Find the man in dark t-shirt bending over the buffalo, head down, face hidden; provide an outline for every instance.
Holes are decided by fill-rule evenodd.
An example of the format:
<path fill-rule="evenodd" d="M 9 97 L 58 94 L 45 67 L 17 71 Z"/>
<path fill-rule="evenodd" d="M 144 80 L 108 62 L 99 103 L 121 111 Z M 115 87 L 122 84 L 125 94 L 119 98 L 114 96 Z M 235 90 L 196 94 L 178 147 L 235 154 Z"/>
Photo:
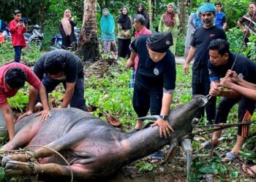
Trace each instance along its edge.
<path fill-rule="evenodd" d="M 43 54 L 34 65 L 34 74 L 42 80 L 46 92 L 52 92 L 59 83 L 65 87 L 61 108 L 68 105 L 86 111 L 84 99 L 83 64 L 72 52 L 67 50 L 52 50 Z M 34 99 L 35 90 L 31 92 Z"/>

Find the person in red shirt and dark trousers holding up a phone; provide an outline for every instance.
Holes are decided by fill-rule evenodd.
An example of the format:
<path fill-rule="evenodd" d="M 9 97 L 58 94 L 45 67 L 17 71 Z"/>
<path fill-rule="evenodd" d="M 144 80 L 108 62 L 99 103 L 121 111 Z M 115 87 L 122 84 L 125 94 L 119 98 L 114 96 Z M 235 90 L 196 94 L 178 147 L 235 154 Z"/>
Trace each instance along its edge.
<path fill-rule="evenodd" d="M 15 62 L 20 62 L 21 49 L 26 47 L 26 41 L 23 33 L 26 32 L 26 24 L 21 20 L 21 12 L 14 11 L 14 19 L 9 23 L 10 33 L 12 35 L 12 46 L 15 50 Z"/>

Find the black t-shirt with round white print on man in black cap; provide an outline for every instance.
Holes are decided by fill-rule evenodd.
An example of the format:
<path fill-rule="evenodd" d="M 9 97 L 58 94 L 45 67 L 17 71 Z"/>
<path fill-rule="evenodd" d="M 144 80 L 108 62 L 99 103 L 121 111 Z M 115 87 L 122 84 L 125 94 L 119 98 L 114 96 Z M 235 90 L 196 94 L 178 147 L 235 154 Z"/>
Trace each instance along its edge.
<path fill-rule="evenodd" d="M 170 50 L 158 63 L 151 60 L 146 48 L 146 39 L 150 35 L 141 35 L 130 45 L 131 50 L 138 52 L 139 62 L 135 75 L 135 84 L 151 89 L 174 90 L 176 87 L 176 63 Z"/>

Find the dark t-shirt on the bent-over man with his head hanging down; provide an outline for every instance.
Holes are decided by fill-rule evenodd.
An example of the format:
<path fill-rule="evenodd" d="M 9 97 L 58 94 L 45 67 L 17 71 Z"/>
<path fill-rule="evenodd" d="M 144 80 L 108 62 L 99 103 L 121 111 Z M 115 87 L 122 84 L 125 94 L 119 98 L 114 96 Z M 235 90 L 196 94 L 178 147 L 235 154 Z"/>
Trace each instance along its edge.
<path fill-rule="evenodd" d="M 43 54 L 34 65 L 34 74 L 42 80 L 45 73 L 45 58 L 47 56 L 59 54 L 64 63 L 64 74 L 66 76 L 65 81 L 68 83 L 76 82 L 77 79 L 83 78 L 83 64 L 72 52 L 67 50 L 52 50 Z"/>

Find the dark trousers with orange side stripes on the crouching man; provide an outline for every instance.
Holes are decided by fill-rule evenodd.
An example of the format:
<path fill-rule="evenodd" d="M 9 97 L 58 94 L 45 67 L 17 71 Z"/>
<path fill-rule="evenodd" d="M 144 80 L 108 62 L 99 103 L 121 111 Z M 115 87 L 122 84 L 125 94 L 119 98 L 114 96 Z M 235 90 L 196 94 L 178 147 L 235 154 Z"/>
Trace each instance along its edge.
<path fill-rule="evenodd" d="M 230 109 L 239 102 L 238 105 L 238 122 L 244 122 L 249 120 L 255 111 L 255 101 L 248 98 L 225 98 L 222 97 L 222 100 L 219 102 L 217 108 L 217 114 L 215 118 L 215 124 L 226 123 L 227 116 L 230 112 Z M 238 135 L 246 137 L 248 135 L 248 126 L 238 126 Z"/>

